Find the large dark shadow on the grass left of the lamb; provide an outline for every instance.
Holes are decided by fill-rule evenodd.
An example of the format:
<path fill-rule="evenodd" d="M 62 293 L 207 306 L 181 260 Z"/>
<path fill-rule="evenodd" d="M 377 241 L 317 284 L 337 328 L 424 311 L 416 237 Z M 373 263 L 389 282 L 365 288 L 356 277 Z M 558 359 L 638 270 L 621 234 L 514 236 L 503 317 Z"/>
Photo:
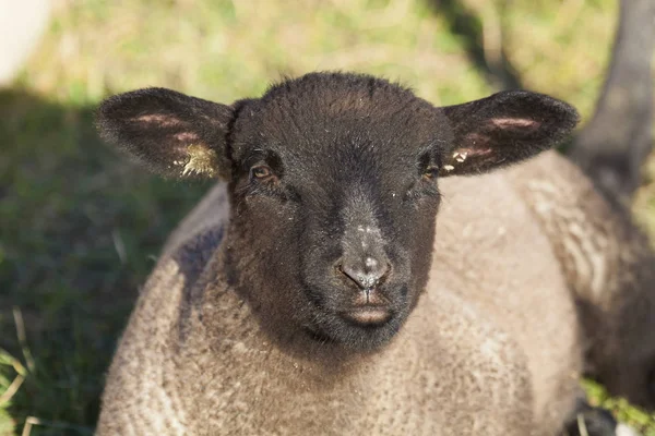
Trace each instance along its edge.
<path fill-rule="evenodd" d="M 0 92 L 0 348 L 28 368 L 0 429 L 9 415 L 16 434 L 28 416 L 45 423 L 33 436 L 92 433 L 139 286 L 207 187 L 129 165 L 96 136 L 93 110 Z M 0 361 L 0 396 L 14 376 Z"/>

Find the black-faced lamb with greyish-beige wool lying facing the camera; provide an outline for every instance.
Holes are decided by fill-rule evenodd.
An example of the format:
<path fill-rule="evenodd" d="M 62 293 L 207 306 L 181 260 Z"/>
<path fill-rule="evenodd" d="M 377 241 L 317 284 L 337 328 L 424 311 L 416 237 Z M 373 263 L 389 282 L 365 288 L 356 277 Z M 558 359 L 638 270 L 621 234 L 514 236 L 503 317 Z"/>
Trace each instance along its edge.
<path fill-rule="evenodd" d="M 548 168 L 584 180 L 548 150 L 577 120 L 541 94 L 436 108 L 340 72 L 230 106 L 108 98 L 107 142 L 165 177 L 221 182 L 141 292 L 97 434 L 570 428 L 582 332 L 529 194 Z"/>

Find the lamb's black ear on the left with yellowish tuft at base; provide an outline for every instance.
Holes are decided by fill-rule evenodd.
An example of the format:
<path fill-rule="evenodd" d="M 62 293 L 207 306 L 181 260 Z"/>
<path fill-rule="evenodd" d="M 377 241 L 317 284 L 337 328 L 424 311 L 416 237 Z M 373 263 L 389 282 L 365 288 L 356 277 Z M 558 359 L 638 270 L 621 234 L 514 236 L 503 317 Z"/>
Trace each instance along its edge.
<path fill-rule="evenodd" d="M 166 177 L 230 174 L 226 135 L 233 109 L 164 88 L 107 98 L 97 111 L 100 136 Z"/>

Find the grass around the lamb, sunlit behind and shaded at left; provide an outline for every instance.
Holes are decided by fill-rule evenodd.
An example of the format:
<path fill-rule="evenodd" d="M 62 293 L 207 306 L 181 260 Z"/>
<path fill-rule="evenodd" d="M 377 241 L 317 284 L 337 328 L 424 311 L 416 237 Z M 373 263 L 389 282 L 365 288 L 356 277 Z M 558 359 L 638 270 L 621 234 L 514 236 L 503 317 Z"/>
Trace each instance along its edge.
<path fill-rule="evenodd" d="M 207 187 L 107 149 L 92 125 L 103 97 L 157 85 L 229 102 L 284 74 L 342 69 L 441 105 L 516 81 L 588 119 L 616 14 L 609 0 L 56 0 L 0 90 L 0 435 L 92 434 L 138 289 Z M 586 388 L 655 435 L 654 416 Z"/>

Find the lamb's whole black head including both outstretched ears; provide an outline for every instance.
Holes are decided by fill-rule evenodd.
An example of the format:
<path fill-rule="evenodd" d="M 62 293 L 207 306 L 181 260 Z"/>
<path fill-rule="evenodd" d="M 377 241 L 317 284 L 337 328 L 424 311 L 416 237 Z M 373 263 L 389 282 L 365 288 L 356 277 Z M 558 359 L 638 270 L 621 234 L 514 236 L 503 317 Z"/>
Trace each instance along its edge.
<path fill-rule="evenodd" d="M 229 182 L 224 255 L 254 312 L 357 350 L 386 343 L 426 286 L 438 179 L 529 158 L 576 121 L 573 108 L 534 93 L 436 108 L 341 73 L 231 106 L 142 89 L 98 113 L 104 136 L 154 170 Z"/>

